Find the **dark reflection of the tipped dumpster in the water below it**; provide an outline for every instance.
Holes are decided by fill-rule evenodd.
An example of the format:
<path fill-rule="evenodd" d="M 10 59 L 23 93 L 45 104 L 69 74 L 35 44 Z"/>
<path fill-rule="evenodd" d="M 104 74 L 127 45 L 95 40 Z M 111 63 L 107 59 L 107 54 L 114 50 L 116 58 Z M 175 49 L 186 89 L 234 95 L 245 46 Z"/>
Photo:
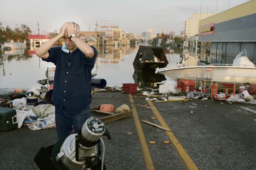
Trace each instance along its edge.
<path fill-rule="evenodd" d="M 138 84 L 138 86 L 150 86 L 157 87 L 157 82 L 161 82 L 166 80 L 165 76 L 159 73 L 155 73 L 154 71 L 150 72 L 139 72 L 134 71 L 133 73 L 134 83 Z"/>

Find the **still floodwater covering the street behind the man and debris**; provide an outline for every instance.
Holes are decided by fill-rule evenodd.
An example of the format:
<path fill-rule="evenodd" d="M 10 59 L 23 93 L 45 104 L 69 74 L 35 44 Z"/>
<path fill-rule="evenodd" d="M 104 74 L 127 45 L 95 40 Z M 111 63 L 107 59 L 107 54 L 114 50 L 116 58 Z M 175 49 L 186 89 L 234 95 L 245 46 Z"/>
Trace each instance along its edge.
<path fill-rule="evenodd" d="M 141 74 L 134 72 L 133 60 L 139 49 L 136 46 L 102 46 L 98 49 L 98 57 L 92 73 L 97 73 L 94 78 L 103 78 L 107 86 L 122 86 L 123 83 L 138 83 L 139 85 L 155 86 L 156 82 L 163 81 L 163 75 Z M 164 49 L 170 65 L 180 61 L 180 49 Z M 13 50 L 1 51 L 0 56 L 0 89 L 3 88 L 29 88 L 42 86 L 37 80 L 46 79 L 47 67 L 55 67 L 54 64 L 44 62 L 36 56 L 35 51 Z"/>

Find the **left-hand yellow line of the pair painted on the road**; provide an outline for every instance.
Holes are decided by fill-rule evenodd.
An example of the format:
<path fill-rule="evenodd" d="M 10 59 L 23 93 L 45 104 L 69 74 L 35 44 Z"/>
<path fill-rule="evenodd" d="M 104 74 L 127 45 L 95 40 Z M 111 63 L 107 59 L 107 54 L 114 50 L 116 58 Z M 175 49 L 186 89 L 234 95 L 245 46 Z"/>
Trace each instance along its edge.
<path fill-rule="evenodd" d="M 135 126 L 137 129 L 138 137 L 139 137 L 139 143 L 141 145 L 141 150 L 142 150 L 142 155 L 143 155 L 146 170 L 154 170 L 155 168 L 153 165 L 151 154 L 149 152 L 149 148 L 147 147 L 147 142 L 141 127 L 141 123 L 139 122 L 139 116 L 136 110 L 136 106 L 134 105 L 133 96 L 129 94 L 129 98 L 130 98 L 131 108 L 133 110 L 133 118 L 134 118 Z"/>

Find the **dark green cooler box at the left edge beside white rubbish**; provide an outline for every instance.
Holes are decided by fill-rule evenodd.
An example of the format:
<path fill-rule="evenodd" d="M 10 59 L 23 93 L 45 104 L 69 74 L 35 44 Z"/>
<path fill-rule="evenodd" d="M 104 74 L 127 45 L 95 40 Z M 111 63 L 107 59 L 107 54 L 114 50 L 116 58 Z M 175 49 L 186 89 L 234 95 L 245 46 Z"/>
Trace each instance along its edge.
<path fill-rule="evenodd" d="M 0 107 L 0 130 L 9 131 L 18 127 L 15 109 Z"/>

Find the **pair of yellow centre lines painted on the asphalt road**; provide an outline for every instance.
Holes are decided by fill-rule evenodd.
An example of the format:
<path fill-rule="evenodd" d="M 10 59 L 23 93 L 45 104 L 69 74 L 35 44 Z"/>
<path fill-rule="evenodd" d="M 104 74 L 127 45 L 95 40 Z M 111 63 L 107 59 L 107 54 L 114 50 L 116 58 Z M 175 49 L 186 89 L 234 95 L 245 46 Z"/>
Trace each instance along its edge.
<path fill-rule="evenodd" d="M 141 149 L 142 149 L 142 154 L 143 154 L 143 159 L 144 159 L 144 164 L 145 164 L 146 170 L 154 170 L 155 168 L 154 168 L 154 165 L 153 165 L 153 161 L 152 161 L 149 149 L 147 147 L 146 138 L 145 138 L 143 130 L 141 128 L 141 124 L 139 122 L 139 116 L 138 116 L 138 113 L 137 113 L 137 110 L 136 110 L 136 106 L 134 104 L 134 100 L 133 100 L 133 97 L 132 97 L 131 94 L 129 94 L 129 98 L 130 98 L 130 102 L 131 102 L 131 107 L 133 109 L 134 122 L 135 122 L 136 129 L 137 129 L 137 132 L 138 132 L 139 143 L 141 145 Z M 167 124 L 165 123 L 165 121 L 162 118 L 162 116 L 159 113 L 159 111 L 154 106 L 154 104 L 151 101 L 148 101 L 148 100 L 147 100 L 147 103 L 152 108 L 152 110 L 153 110 L 154 114 L 156 115 L 156 118 L 160 122 L 161 126 L 170 129 L 167 126 Z M 194 162 L 191 160 L 191 158 L 188 156 L 188 154 L 186 153 L 186 151 L 184 150 L 184 148 L 180 144 L 180 142 L 177 140 L 175 135 L 172 132 L 165 131 L 165 133 L 167 134 L 167 136 L 169 137 L 170 141 L 172 142 L 172 146 L 174 147 L 176 153 L 180 157 L 180 159 L 183 162 L 183 164 L 185 165 L 185 167 L 187 169 L 189 169 L 189 170 L 198 170 L 198 168 L 196 167 Z"/>

